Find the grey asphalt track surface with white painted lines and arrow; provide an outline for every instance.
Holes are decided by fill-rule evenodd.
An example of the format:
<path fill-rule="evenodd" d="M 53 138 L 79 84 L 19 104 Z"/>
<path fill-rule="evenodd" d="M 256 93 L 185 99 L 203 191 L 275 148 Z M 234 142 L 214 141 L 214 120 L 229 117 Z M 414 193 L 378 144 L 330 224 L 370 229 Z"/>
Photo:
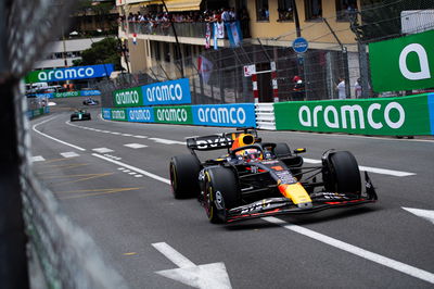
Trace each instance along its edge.
<path fill-rule="evenodd" d="M 191 288 L 164 274 L 201 288 L 433 288 L 434 223 L 403 209 L 434 210 L 432 140 L 259 131 L 309 162 L 352 151 L 380 200 L 213 225 L 196 200 L 173 198 L 168 163 L 186 137 L 233 129 L 107 122 L 98 108 L 71 124 L 80 102 L 58 102 L 31 122 L 34 171 L 131 288 Z"/>

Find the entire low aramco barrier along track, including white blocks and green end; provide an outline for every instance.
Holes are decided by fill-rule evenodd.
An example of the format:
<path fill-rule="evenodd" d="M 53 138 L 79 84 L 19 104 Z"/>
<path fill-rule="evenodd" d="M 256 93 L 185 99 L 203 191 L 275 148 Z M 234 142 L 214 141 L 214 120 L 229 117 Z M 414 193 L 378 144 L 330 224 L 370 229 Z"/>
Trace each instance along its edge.
<path fill-rule="evenodd" d="M 105 120 L 383 136 L 434 135 L 434 93 L 400 98 L 102 109 Z"/>

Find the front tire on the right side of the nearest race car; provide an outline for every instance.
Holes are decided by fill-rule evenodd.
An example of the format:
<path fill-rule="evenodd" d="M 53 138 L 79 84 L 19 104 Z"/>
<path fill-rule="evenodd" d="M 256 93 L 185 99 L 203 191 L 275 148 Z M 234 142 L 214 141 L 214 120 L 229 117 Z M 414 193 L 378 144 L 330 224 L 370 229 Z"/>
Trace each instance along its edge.
<path fill-rule="evenodd" d="M 329 191 L 361 194 L 359 166 L 349 151 L 331 153 L 326 162 L 322 178 Z"/>

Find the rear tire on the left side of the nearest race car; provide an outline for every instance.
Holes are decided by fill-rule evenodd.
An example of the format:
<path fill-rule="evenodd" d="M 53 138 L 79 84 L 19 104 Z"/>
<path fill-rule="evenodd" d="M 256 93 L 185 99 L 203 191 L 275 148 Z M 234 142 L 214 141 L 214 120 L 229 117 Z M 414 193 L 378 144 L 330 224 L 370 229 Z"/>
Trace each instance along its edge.
<path fill-rule="evenodd" d="M 201 163 L 192 154 L 182 154 L 170 160 L 170 185 L 175 199 L 199 197 L 199 172 Z"/>

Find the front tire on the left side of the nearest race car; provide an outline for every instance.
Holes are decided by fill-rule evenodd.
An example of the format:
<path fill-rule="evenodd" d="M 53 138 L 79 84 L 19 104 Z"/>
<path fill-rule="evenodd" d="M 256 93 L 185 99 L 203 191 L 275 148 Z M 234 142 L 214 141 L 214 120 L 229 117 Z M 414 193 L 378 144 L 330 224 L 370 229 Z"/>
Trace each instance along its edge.
<path fill-rule="evenodd" d="M 226 222 L 226 210 L 241 204 L 237 176 L 229 167 L 216 166 L 205 171 L 203 204 L 213 224 Z"/>

